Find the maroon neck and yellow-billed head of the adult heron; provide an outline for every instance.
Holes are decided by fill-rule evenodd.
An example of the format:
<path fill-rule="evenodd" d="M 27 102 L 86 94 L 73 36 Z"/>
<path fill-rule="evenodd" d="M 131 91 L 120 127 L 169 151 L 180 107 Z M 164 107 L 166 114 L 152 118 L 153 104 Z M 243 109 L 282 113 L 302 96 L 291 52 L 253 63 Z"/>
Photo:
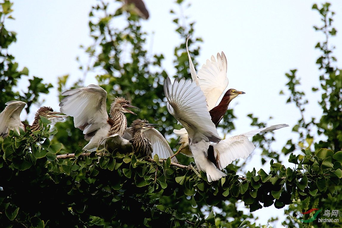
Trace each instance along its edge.
<path fill-rule="evenodd" d="M 211 116 L 211 121 L 215 124 L 216 127 L 219 125 L 224 114 L 226 113 L 229 103 L 239 94 L 245 94 L 245 93 L 241 91 L 237 91 L 235 89 L 227 90 L 227 92 L 223 95 L 220 104 L 209 111 L 210 116 Z"/>

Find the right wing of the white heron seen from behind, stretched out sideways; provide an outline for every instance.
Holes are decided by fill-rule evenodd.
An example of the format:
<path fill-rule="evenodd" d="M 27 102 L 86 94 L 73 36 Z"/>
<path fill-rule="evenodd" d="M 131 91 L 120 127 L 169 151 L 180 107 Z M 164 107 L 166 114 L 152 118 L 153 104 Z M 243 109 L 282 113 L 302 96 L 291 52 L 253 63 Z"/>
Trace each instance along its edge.
<path fill-rule="evenodd" d="M 272 125 L 267 128 L 260 128 L 240 135 L 235 135 L 233 137 L 221 140 L 220 143 L 212 144 L 215 155 L 219 156 L 219 159 L 216 159 L 218 160 L 219 169 L 222 170 L 234 160 L 239 158 L 246 159 L 250 155 L 255 146 L 248 140 L 249 137 L 262 132 L 274 131 L 287 126 L 289 125 Z"/>

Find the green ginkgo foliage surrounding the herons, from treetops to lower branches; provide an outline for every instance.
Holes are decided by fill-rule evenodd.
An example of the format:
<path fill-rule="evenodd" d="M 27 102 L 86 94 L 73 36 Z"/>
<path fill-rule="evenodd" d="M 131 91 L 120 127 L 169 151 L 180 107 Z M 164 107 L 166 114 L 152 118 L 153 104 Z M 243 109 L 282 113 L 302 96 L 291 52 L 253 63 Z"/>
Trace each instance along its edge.
<path fill-rule="evenodd" d="M 132 100 L 133 105 L 144 104 L 139 107 L 141 115 L 151 123 L 160 124 L 158 130 L 163 135 L 172 135 L 172 130 L 181 126 L 166 109 L 162 84 L 167 76 L 190 78 L 185 40 L 194 32 L 194 24 L 183 27 L 178 23 L 177 13 L 171 10 L 177 25 L 175 32 L 184 42 L 174 49 L 176 73 L 169 75 L 163 69 L 164 56 L 152 55 L 144 49 L 146 33 L 139 16 L 134 12 L 111 11 L 113 8 L 109 5 L 98 1 L 90 11 L 90 36 L 94 42 L 84 50 L 91 61 L 80 68 L 86 74 L 101 72 L 96 79 L 108 93 L 107 107 L 118 95 Z M 251 214 L 237 209 L 237 203 L 242 202 L 250 212 L 271 205 L 277 209 L 289 205 L 289 217 L 284 225 L 308 227 L 315 221 L 308 224 L 299 219 L 310 218 L 312 214 L 299 217 L 296 211 L 315 207 L 338 210 L 336 202 L 341 202 L 342 177 L 342 77 L 328 42 L 328 38 L 336 35 L 329 6 L 329 3 L 313 6 L 322 18 L 322 24 L 315 29 L 326 35 L 326 40 L 316 46 L 322 53 L 317 59 L 321 86 L 313 88 L 313 92 L 323 91 L 319 101 L 323 116 L 320 120 L 307 121 L 302 115 L 292 129 L 298 133 L 299 141 L 289 139 L 282 151 L 272 151 L 269 146 L 274 141 L 272 133 L 253 138 L 262 148 L 263 157 L 272 158 L 265 164 L 270 171 L 253 169 L 239 176 L 236 171 L 240 167 L 233 162 L 224 169 L 226 177 L 209 183 L 205 173 L 198 172 L 193 160 L 186 156 L 179 156 L 179 163 L 175 164 L 170 159 L 160 160 L 157 156 L 144 159 L 118 150 L 87 153 L 82 151 L 86 143 L 82 132 L 74 128 L 71 118 L 54 127 L 42 118 L 39 131 L 10 131 L 8 137 L 0 137 L 0 226 L 260 227 Z M 3 49 L 15 41 L 13 36 L 8 36 L 14 32 L 3 32 L 5 21 L 12 15 L 15 12 L 11 10 L 11 3 L 1 3 L 0 41 L 1 45 L 6 43 Z M 115 27 L 119 17 L 127 19 L 124 28 Z M 193 58 L 199 54 L 200 42 L 200 38 L 193 36 L 189 40 Z M 123 59 L 127 53 L 129 60 Z M 5 61 L 13 62 L 13 59 L 12 56 Z M 195 59 L 194 64 L 197 65 Z M 3 80 L 3 72 L 8 67 L 0 67 Z M 305 93 L 297 90 L 300 80 L 295 73 L 294 69 L 286 74 L 289 82 L 282 94 L 304 113 L 308 101 Z M 25 70 L 19 71 L 20 74 L 25 75 Z M 60 92 L 70 89 L 66 88 L 67 80 L 68 76 L 61 77 L 55 85 Z M 6 90 L 15 93 L 14 85 L 9 84 Z M 73 87 L 81 85 L 78 81 Z M 251 125 L 265 126 L 257 117 L 248 116 Z M 136 117 L 127 118 L 131 123 Z M 229 110 L 220 128 L 225 132 L 234 129 L 234 118 L 233 110 Z M 312 126 L 317 132 L 311 130 Z M 317 134 L 327 139 L 318 141 Z M 171 148 L 176 150 L 176 144 L 176 139 L 170 138 Z M 309 146 L 295 150 L 304 144 Z M 294 169 L 281 164 L 281 153 L 287 155 Z"/>

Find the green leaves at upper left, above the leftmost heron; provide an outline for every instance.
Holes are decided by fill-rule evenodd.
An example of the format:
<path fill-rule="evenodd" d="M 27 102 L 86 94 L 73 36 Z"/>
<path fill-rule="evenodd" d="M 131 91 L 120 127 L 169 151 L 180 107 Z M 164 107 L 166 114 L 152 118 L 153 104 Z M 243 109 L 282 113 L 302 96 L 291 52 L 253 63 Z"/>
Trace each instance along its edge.
<path fill-rule="evenodd" d="M 28 80 L 27 92 L 20 94 L 18 91 L 13 91 L 18 80 L 22 76 L 28 76 L 28 69 L 24 67 L 19 70 L 18 63 L 14 62 L 14 56 L 8 53 L 9 45 L 16 41 L 16 33 L 6 30 L 4 26 L 6 19 L 14 19 L 11 15 L 13 12 L 12 5 L 13 3 L 8 0 L 0 3 L 0 110 L 5 108 L 5 103 L 9 100 L 21 100 L 26 102 L 26 112 L 28 113 L 31 104 L 37 103 L 39 94 L 49 93 L 52 84 L 44 84 L 41 78 L 33 77 L 33 79 Z"/>

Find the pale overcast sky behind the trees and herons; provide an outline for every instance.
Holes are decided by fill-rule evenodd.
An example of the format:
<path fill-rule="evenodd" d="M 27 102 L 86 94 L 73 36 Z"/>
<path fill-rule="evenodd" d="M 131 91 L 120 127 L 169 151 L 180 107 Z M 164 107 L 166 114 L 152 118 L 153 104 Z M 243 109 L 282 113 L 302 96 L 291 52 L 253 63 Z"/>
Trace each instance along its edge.
<path fill-rule="evenodd" d="M 92 43 L 88 14 L 97 1 L 13 2 L 15 21 L 6 24 L 8 30 L 17 32 L 17 42 L 10 47 L 10 53 L 15 56 L 19 68 L 26 66 L 30 77 L 41 77 L 43 82 L 53 85 L 56 85 L 57 77 L 66 74 L 72 81 L 82 78 L 76 57 L 85 56 L 79 45 Z M 186 1 L 189 2 L 190 7 L 180 9 L 174 1 L 145 0 L 150 14 L 150 18 L 142 22 L 143 29 L 149 34 L 147 50 L 150 54 L 163 53 L 165 69 L 172 75 L 174 47 L 180 40 L 172 23 L 175 16 L 169 11 L 183 12 L 189 17 L 184 23 L 196 22 L 194 36 L 204 40 L 197 59 L 200 66 L 211 55 L 223 51 L 228 61 L 228 88 L 246 92 L 234 99 L 230 106 L 238 117 L 236 134 L 254 129 L 246 117 L 249 113 L 269 125 L 286 123 L 293 126 L 297 123 L 300 118 L 298 110 L 293 104 L 286 104 L 287 96 L 279 95 L 280 90 L 286 90 L 285 73 L 290 69 L 298 69 L 297 75 L 303 85 L 300 89 L 309 95 L 306 117 L 320 117 L 321 110 L 317 105 L 320 95 L 313 94 L 311 88 L 319 86 L 315 62 L 320 53 L 314 46 L 323 41 L 324 36 L 313 29 L 313 25 L 321 24 L 319 14 L 311 8 L 314 3 L 320 5 L 324 1 Z M 334 27 L 338 30 L 331 44 L 337 46 L 334 55 L 341 61 L 342 1 L 329 2 L 332 3 L 331 10 L 336 12 Z M 84 85 L 91 83 L 96 83 L 92 75 Z M 26 91 L 25 86 L 21 83 L 20 90 Z M 55 89 L 45 99 L 44 105 L 59 109 Z M 32 114 L 27 117 L 29 122 L 36 108 L 32 108 Z M 269 116 L 273 117 L 270 121 Z M 293 137 L 291 129 L 275 132 L 275 149 L 281 149 L 289 137 Z M 258 156 L 257 152 L 253 156 Z M 255 160 L 260 159 L 256 157 Z M 254 166 L 257 170 L 261 168 L 261 164 Z M 282 210 L 265 212 L 262 209 L 255 213 L 262 217 L 261 224 L 265 224 L 269 216 L 283 214 Z"/>

